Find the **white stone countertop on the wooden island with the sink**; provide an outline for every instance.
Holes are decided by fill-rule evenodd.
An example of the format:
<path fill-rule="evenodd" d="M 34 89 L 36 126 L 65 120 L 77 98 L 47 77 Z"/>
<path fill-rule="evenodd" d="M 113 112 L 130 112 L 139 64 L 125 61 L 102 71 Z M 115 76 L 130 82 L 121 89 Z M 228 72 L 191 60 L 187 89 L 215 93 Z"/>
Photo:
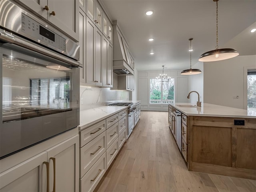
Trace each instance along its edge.
<path fill-rule="evenodd" d="M 245 110 L 208 103 L 202 103 L 202 107 L 184 107 L 189 105 L 196 106 L 194 103 L 172 103 L 170 105 L 187 116 L 256 118 L 256 110 Z"/>

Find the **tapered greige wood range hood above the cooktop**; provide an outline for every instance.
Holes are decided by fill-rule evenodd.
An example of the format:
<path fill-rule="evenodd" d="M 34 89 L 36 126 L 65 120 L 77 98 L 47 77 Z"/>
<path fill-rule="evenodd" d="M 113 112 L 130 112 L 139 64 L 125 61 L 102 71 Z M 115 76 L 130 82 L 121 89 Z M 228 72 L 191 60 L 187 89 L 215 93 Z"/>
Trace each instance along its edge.
<path fill-rule="evenodd" d="M 134 59 L 117 21 L 113 21 L 113 72 L 118 75 L 134 75 Z"/>

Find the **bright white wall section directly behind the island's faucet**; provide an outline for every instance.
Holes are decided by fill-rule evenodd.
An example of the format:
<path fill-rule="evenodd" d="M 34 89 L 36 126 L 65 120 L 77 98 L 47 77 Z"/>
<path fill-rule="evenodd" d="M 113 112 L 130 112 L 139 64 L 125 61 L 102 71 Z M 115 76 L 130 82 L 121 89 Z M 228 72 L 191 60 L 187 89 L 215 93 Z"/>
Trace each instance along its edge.
<path fill-rule="evenodd" d="M 196 75 L 188 75 L 188 92 L 197 91 L 200 95 L 200 101 L 204 102 L 204 63 L 197 62 L 193 67 L 193 69 L 200 69 L 202 71 L 201 74 Z M 188 102 L 196 103 L 198 101 L 198 95 L 196 93 L 190 94 L 190 99 Z"/>

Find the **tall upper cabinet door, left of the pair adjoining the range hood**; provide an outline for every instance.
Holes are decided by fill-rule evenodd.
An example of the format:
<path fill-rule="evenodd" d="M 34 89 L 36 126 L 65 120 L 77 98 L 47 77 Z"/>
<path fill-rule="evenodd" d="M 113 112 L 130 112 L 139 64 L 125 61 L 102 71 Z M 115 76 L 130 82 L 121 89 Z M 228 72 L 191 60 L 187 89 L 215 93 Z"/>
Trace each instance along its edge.
<path fill-rule="evenodd" d="M 108 40 L 105 37 L 102 42 L 102 78 L 103 86 L 108 87 Z"/>

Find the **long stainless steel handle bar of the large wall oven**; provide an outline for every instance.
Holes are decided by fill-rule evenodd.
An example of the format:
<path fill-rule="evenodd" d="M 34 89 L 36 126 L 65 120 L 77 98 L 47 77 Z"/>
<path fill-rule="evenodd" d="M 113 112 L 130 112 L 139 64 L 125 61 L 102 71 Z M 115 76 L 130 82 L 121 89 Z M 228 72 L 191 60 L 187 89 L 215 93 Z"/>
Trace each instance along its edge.
<path fill-rule="evenodd" d="M 4 40 L 8 43 L 15 44 L 15 45 L 27 48 L 29 50 L 38 52 L 38 53 L 46 55 L 46 56 L 50 56 L 52 58 L 55 58 L 55 59 L 61 60 L 63 62 L 66 62 L 68 64 L 71 64 L 72 66 L 81 67 L 81 68 L 83 67 L 83 65 L 80 64 L 80 62 L 78 62 L 78 61 L 71 60 L 71 59 L 66 58 L 64 56 L 58 55 L 54 52 L 50 52 L 48 50 L 45 50 L 45 49 L 43 49 L 39 46 L 35 46 L 35 45 L 33 45 L 29 42 L 21 40 L 20 38 L 14 37 L 12 34 L 9 34 L 6 31 L 2 31 L 2 30 L 0 31 L 0 40 Z"/>

